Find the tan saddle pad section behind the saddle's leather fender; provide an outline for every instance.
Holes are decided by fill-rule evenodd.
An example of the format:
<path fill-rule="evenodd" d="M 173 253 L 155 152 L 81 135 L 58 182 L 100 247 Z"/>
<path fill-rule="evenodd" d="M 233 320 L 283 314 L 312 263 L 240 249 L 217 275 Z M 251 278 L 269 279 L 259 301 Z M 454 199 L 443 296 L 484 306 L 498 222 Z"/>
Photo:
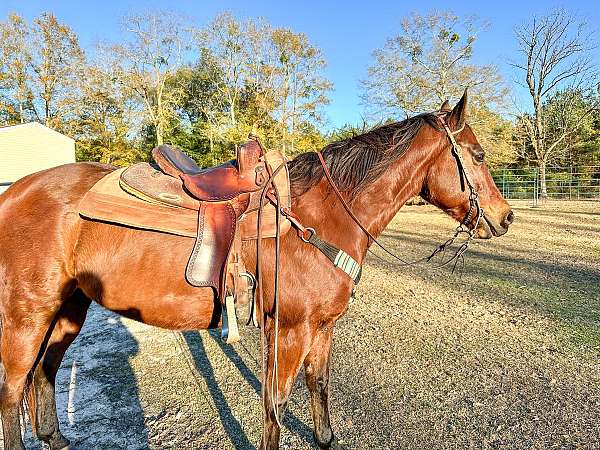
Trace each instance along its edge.
<path fill-rule="evenodd" d="M 177 236 L 197 236 L 198 211 L 152 203 L 128 194 L 119 185 L 125 170 L 105 175 L 85 194 L 79 205 L 82 217 Z"/>

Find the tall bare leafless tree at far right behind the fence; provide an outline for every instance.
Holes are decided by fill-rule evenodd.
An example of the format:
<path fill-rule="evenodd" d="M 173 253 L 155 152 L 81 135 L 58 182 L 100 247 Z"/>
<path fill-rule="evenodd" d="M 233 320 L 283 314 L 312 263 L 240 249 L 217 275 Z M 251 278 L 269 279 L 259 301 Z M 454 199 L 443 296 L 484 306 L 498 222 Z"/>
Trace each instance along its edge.
<path fill-rule="evenodd" d="M 531 97 L 532 110 L 521 115 L 539 167 L 540 195 L 547 197 L 546 165 L 564 153 L 565 142 L 577 133 L 585 119 L 598 109 L 597 101 L 577 110 L 578 95 L 560 97 L 561 111 L 553 108 L 549 99 L 558 90 L 585 92 L 594 86 L 590 50 L 593 40 L 584 22 L 564 10 L 556 10 L 518 27 L 515 31 L 521 60 L 512 65 L 522 71 L 524 85 Z M 559 113 L 557 115 L 557 113 Z M 572 114 L 574 113 L 574 114 Z M 563 118 L 560 119 L 559 116 Z M 569 118 L 565 121 L 565 115 Z M 549 132 L 552 119 L 565 126 Z"/>

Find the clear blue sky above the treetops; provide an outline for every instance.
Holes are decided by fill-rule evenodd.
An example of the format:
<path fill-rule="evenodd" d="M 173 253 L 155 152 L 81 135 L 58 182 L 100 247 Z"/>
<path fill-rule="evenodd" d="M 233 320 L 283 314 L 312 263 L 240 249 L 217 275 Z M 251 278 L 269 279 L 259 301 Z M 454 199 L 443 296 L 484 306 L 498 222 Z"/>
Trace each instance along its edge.
<path fill-rule="evenodd" d="M 115 40 L 120 34 L 120 19 L 125 14 L 145 10 L 174 10 L 197 26 L 228 10 L 238 17 L 261 16 L 273 25 L 285 26 L 308 35 L 321 48 L 328 62 L 327 77 L 334 83 L 331 104 L 326 113 L 330 126 L 359 123 L 363 107 L 359 99 L 359 80 L 371 63 L 371 52 L 384 45 L 386 38 L 399 30 L 400 20 L 412 11 L 451 9 L 459 16 L 476 14 L 491 23 L 475 47 L 475 60 L 496 64 L 507 81 L 514 78 L 506 63 L 515 49 L 513 28 L 533 14 L 544 14 L 565 6 L 571 12 L 600 24 L 598 0 L 535 1 L 203 1 L 203 0 L 0 0 L 0 17 L 17 12 L 32 19 L 52 11 L 72 27 L 84 48 L 93 48 L 99 40 Z M 596 53 L 600 56 L 600 50 Z M 600 59 L 600 58 L 597 58 Z"/>

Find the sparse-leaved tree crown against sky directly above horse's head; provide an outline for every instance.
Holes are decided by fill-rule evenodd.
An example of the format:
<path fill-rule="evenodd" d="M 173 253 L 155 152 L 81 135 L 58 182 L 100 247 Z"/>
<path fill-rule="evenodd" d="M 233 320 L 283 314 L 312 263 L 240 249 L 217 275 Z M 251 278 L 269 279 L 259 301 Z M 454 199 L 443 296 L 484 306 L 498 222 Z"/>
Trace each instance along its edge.
<path fill-rule="evenodd" d="M 494 66 L 471 62 L 485 24 L 450 13 L 413 13 L 398 35 L 375 50 L 362 81 L 363 102 L 376 115 L 434 111 L 466 87 L 474 109 L 502 103 L 507 89 Z"/>

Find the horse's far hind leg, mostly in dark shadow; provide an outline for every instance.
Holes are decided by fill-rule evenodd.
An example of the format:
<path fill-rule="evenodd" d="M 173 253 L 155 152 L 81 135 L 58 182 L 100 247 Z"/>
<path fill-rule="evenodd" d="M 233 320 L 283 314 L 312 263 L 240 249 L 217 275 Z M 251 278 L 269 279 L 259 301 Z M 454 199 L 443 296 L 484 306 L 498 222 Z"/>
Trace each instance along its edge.
<path fill-rule="evenodd" d="M 60 450 L 69 445 L 69 440 L 60 432 L 54 386 L 65 352 L 79 335 L 90 303 L 91 300 L 80 290 L 63 303 L 54 319 L 44 356 L 33 375 L 33 388 L 28 400 L 31 423 L 38 439 L 48 444 L 50 450 Z"/>

